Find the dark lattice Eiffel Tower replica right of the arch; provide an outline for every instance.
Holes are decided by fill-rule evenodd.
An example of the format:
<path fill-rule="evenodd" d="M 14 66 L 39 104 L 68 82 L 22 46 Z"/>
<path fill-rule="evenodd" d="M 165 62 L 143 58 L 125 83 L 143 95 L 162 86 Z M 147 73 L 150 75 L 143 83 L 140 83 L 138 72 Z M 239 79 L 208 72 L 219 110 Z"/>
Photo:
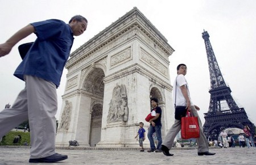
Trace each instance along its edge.
<path fill-rule="evenodd" d="M 230 87 L 226 86 L 220 68 L 218 67 L 208 32 L 204 31 L 202 34 L 210 72 L 210 105 L 208 113 L 204 113 L 204 134 L 209 141 L 213 141 L 214 139 L 218 139 L 218 135 L 222 129 L 243 129 L 244 125 L 248 125 L 253 136 L 255 126 L 248 119 L 245 109 L 239 108 L 232 98 Z M 228 106 L 225 106 L 227 104 Z"/>

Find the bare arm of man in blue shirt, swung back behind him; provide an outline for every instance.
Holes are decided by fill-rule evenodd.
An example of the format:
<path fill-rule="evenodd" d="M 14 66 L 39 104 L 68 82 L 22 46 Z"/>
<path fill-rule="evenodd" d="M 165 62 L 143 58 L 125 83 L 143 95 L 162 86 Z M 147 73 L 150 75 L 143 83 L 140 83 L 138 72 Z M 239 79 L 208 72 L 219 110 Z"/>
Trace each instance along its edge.
<path fill-rule="evenodd" d="M 20 40 L 25 37 L 31 35 L 31 33 L 35 32 L 35 28 L 28 24 L 28 26 L 23 27 L 18 32 L 16 32 L 13 36 L 10 37 L 5 43 L 0 44 L 0 57 L 3 57 L 11 52 L 13 46 L 18 43 Z"/>

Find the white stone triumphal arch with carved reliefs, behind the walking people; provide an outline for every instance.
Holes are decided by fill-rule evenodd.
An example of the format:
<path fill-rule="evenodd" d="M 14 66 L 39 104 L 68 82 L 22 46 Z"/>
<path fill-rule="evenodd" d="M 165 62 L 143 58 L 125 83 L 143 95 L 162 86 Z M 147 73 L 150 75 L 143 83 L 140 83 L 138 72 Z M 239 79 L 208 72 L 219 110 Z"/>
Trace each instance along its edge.
<path fill-rule="evenodd" d="M 170 61 L 174 49 L 136 7 L 71 54 L 56 146 L 139 147 L 150 98 L 162 108 L 162 137 L 174 122 Z M 149 146 L 146 137 L 144 146 Z"/>

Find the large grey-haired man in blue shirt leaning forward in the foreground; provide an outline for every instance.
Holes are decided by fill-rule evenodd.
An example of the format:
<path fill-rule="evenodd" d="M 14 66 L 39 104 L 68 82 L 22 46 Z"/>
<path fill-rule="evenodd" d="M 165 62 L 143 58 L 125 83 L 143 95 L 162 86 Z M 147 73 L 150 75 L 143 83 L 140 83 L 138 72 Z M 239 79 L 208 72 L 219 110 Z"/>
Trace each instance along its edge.
<path fill-rule="evenodd" d="M 68 24 L 57 19 L 35 22 L 0 44 L 2 57 L 31 33 L 38 37 L 14 73 L 26 82 L 24 90 L 19 93 L 13 107 L 0 112 L 0 137 L 24 120 L 29 120 L 31 163 L 52 163 L 68 158 L 55 153 L 56 88 L 71 51 L 73 36 L 84 33 L 87 23 L 81 15 L 73 16 Z"/>

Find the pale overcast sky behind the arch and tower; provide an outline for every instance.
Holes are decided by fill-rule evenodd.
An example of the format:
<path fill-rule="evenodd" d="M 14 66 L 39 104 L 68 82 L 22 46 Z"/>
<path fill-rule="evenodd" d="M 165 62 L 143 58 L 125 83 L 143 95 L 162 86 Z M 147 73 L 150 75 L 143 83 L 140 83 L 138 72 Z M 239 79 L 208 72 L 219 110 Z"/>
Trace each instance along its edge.
<path fill-rule="evenodd" d="M 137 7 L 166 37 L 175 49 L 170 60 L 171 84 L 176 77 L 176 66 L 184 63 L 192 100 L 199 105 L 201 120 L 209 108 L 209 70 L 204 40 L 201 33 L 208 31 L 210 42 L 226 84 L 238 106 L 245 108 L 252 122 L 256 121 L 256 1 L 254 0 L 0 0 L 0 43 L 28 23 L 46 19 L 68 22 L 73 15 L 88 19 L 84 35 L 76 37 L 72 51 L 115 22 L 126 12 Z M 11 53 L 0 58 L 0 105 L 13 104 L 24 88 L 24 82 L 13 76 L 21 58 L 18 45 L 35 40 L 32 34 L 20 41 Z M 64 70 L 57 90 L 60 117 L 61 95 L 64 94 L 67 70 Z"/>

